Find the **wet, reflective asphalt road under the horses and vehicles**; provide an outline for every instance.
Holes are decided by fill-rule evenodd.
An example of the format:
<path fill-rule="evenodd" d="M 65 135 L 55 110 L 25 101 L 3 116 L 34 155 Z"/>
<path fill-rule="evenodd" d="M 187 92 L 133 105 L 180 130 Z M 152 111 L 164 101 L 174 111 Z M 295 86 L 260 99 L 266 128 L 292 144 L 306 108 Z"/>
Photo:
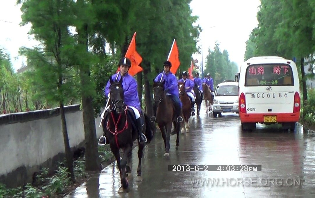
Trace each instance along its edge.
<path fill-rule="evenodd" d="M 129 193 L 120 187 L 116 162 L 66 198 L 98 197 L 315 197 L 315 132 L 298 125 L 284 132 L 276 125 L 257 125 L 242 132 L 238 114 L 213 118 L 201 110 L 190 118 L 190 132 L 171 136 L 170 156 L 157 131 L 144 149 L 143 181 L 135 182 L 137 148 L 133 150 Z M 167 165 L 261 165 L 261 172 L 168 172 Z M 215 184 L 215 181 L 217 182 Z"/>

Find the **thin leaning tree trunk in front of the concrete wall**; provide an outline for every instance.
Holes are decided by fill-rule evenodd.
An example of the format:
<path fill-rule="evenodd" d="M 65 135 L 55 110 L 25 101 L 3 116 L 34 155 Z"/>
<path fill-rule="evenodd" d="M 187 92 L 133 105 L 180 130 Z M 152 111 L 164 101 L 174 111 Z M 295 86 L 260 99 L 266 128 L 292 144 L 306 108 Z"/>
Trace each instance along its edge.
<path fill-rule="evenodd" d="M 66 162 L 67 162 L 69 177 L 71 178 L 72 183 L 74 183 L 75 178 L 74 178 L 74 172 L 73 172 L 73 159 L 72 159 L 72 152 L 71 152 L 70 144 L 69 144 L 65 109 L 62 102 L 60 102 L 59 104 L 60 104 L 60 117 L 61 117 L 61 126 L 62 126 L 62 134 L 63 134 L 63 143 L 65 145 L 65 153 L 66 153 Z"/>

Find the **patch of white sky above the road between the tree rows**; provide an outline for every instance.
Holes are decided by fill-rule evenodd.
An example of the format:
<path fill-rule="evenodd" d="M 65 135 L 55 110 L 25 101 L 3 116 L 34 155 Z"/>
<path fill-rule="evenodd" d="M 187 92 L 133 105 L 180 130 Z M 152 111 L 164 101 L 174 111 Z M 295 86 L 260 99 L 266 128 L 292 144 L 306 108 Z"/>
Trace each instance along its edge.
<path fill-rule="evenodd" d="M 245 42 L 258 25 L 259 5 L 260 0 L 192 0 L 192 14 L 199 16 L 197 23 L 203 29 L 199 43 L 203 45 L 203 59 L 206 59 L 209 47 L 213 50 L 215 41 L 218 41 L 221 51 L 226 49 L 230 60 L 240 67 L 244 61 Z M 193 57 L 201 60 L 201 55 Z"/>

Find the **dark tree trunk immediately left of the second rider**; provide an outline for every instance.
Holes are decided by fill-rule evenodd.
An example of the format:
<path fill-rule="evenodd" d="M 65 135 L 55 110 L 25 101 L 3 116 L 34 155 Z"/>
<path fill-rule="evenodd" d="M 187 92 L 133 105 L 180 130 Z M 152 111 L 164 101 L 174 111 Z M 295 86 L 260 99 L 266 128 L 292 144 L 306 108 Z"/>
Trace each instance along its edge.
<path fill-rule="evenodd" d="M 153 116 L 153 97 L 152 97 L 152 87 L 150 86 L 150 81 L 148 79 L 148 73 L 149 70 L 147 68 L 150 68 L 150 63 L 145 63 L 145 67 L 143 69 L 143 76 L 144 76 L 144 93 L 145 93 L 145 101 L 146 101 L 146 114 L 151 117 Z"/>

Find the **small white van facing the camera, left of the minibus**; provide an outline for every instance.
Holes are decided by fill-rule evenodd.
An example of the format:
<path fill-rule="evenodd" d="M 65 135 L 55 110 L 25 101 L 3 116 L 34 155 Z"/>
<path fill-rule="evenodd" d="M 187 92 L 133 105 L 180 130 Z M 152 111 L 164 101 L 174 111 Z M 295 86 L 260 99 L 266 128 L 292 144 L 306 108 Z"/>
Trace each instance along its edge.
<path fill-rule="evenodd" d="M 238 83 L 223 82 L 217 85 L 213 98 L 213 117 L 222 113 L 238 113 Z"/>

